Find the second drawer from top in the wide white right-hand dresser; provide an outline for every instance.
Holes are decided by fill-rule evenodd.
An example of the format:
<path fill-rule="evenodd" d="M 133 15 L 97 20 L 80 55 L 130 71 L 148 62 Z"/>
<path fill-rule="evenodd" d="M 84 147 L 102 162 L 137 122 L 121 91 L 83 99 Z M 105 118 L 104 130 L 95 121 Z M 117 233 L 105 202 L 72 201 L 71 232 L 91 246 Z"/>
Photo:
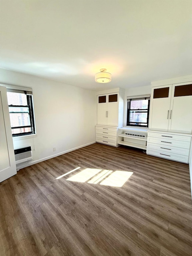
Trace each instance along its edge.
<path fill-rule="evenodd" d="M 147 137 L 148 143 L 155 143 L 160 144 L 164 146 L 173 146 L 173 147 L 179 147 L 179 148 L 190 148 L 190 141 L 183 141 L 183 140 L 173 140 L 173 139 L 167 139 L 165 137 Z"/>

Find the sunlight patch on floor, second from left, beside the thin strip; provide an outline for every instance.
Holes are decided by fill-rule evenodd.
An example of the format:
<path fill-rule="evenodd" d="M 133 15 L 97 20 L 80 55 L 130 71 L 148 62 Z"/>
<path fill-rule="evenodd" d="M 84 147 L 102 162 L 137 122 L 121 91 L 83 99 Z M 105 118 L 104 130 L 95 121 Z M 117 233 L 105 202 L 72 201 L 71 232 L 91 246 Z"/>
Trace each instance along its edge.
<path fill-rule="evenodd" d="M 100 171 L 102 171 L 102 169 L 86 168 L 85 170 L 71 176 L 67 180 L 76 181 L 76 182 L 85 182 L 88 179 L 91 179 L 93 176 L 95 176 Z"/>

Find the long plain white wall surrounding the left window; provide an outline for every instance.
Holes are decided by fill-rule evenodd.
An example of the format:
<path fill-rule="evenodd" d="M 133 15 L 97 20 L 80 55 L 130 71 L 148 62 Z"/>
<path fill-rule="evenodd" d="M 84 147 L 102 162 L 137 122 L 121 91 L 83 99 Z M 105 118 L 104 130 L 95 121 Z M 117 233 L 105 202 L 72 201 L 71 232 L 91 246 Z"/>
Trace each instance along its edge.
<path fill-rule="evenodd" d="M 13 139 L 14 147 L 35 148 L 32 163 L 95 142 L 96 92 L 5 69 L 0 83 L 33 88 L 37 136 Z"/>

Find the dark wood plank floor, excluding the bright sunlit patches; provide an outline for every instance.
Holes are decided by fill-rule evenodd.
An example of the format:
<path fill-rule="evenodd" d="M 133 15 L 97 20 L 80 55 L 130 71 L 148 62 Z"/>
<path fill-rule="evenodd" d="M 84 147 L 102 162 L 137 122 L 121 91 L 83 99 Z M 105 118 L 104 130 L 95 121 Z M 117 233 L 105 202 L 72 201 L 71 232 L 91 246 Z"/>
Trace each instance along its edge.
<path fill-rule="evenodd" d="M 66 180 L 85 168 L 133 175 L 122 187 Z M 0 207 L 2 256 L 192 255 L 188 165 L 123 146 L 95 143 L 19 170 L 0 183 Z"/>

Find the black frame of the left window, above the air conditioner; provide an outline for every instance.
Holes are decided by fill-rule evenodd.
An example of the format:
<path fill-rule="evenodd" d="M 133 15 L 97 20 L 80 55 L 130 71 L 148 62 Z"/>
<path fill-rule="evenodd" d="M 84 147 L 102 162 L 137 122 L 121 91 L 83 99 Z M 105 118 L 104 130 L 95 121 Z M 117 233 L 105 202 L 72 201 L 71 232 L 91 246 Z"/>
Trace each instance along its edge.
<path fill-rule="evenodd" d="M 15 92 L 15 93 L 19 93 L 19 92 Z M 15 134 L 12 134 L 12 137 L 35 134 L 35 117 L 34 117 L 34 110 L 33 110 L 33 99 L 32 99 L 32 95 L 26 94 L 26 97 L 27 97 L 27 105 L 26 106 L 24 106 L 24 105 L 9 105 L 9 107 L 28 107 L 29 108 L 29 119 L 30 119 L 31 125 L 11 127 L 11 130 L 12 129 L 18 129 L 18 128 L 31 127 L 32 131 L 22 132 L 22 133 L 15 133 Z M 9 114 L 10 113 L 11 112 L 9 112 Z"/>

